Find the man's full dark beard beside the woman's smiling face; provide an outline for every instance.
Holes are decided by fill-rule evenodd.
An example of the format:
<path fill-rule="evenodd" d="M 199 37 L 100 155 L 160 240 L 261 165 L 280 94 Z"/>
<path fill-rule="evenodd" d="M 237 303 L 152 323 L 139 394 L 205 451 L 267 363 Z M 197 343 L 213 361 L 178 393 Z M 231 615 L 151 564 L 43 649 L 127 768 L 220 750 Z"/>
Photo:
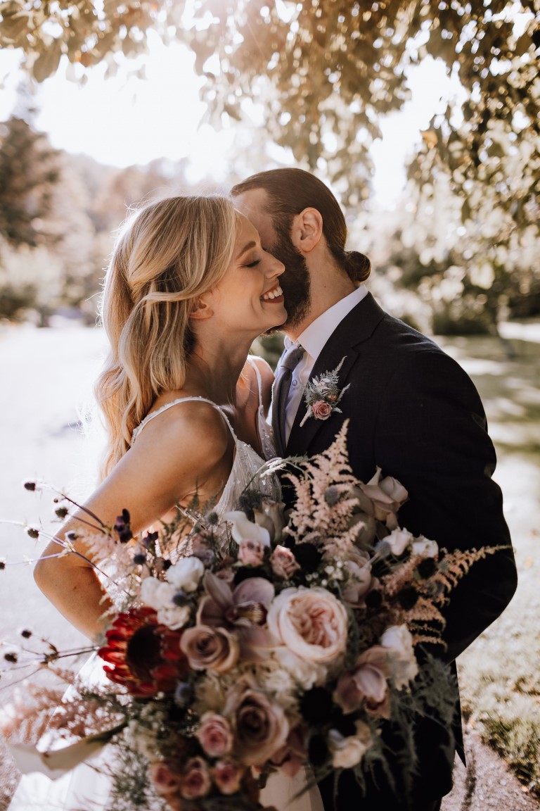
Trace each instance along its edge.
<path fill-rule="evenodd" d="M 282 330 L 287 331 L 287 328 L 297 327 L 304 320 L 311 306 L 311 284 L 304 256 L 296 250 L 287 236 L 279 234 L 268 251 L 285 265 L 285 270 L 279 277 L 279 285 L 285 298 L 287 321 L 265 333 L 272 335 Z"/>

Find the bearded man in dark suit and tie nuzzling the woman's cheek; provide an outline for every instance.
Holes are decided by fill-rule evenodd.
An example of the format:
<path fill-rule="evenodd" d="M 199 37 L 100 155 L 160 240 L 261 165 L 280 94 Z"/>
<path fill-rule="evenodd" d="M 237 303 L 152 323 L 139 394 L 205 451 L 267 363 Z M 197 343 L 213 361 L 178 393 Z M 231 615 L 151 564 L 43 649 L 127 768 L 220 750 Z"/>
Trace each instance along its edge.
<path fill-rule="evenodd" d="M 449 551 L 509 544 L 500 488 L 491 479 L 495 451 L 474 385 L 453 358 L 382 310 L 368 293 L 363 282 L 369 260 L 345 250 L 347 225 L 334 195 L 301 169 L 274 169 L 238 183 L 232 196 L 259 231 L 262 246 L 286 268 L 280 277 L 288 313 L 280 364 L 288 368 L 279 366 L 276 380 L 284 376 L 287 384 L 280 384 L 280 402 L 273 403 L 280 455 L 321 453 L 349 419 L 355 476 L 366 482 L 380 466 L 409 491 L 399 512 L 401 526 Z M 303 423 L 305 384 L 340 364 L 338 386 L 348 387 L 339 403 L 342 413 L 311 415 Z M 456 657 L 504 611 L 516 585 L 514 558 L 506 550 L 475 563 L 453 590 L 445 612 L 447 648 L 439 655 L 454 674 Z M 335 809 L 440 809 L 452 787 L 453 736 L 464 759 L 457 689 L 454 727 L 449 731 L 428 718 L 415 725 L 419 762 L 409 800 L 397 756 L 395 792 L 385 775 L 375 773 L 364 797 L 346 770 Z M 386 742 L 392 747 L 392 740 Z M 331 811 L 333 779 L 320 788 Z"/>

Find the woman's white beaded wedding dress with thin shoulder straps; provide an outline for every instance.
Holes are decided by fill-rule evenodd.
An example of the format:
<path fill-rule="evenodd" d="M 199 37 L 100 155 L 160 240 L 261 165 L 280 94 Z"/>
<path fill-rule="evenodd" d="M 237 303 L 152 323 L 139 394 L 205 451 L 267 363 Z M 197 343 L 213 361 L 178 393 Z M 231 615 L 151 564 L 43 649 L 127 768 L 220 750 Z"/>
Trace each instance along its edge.
<path fill-rule="evenodd" d="M 252 363 L 257 374 L 259 388 L 259 409 L 257 413 L 257 429 L 261 441 L 262 452 L 266 459 L 275 456 L 274 443 L 271 436 L 270 427 L 266 423 L 264 408 L 262 405 L 262 384 L 261 375 L 257 364 Z M 165 410 L 187 401 L 201 401 L 210 403 L 219 410 L 228 428 L 232 432 L 235 440 L 236 452 L 232 463 L 231 473 L 223 487 L 223 492 L 215 505 L 215 512 L 219 516 L 230 512 L 237 507 L 238 498 L 244 488 L 253 481 L 261 467 L 265 464 L 259 454 L 251 445 L 239 440 L 229 422 L 227 415 L 219 407 L 205 397 L 182 397 L 167 403 L 162 408 L 148 414 L 142 423 L 135 429 L 133 441 L 138 434 L 151 421 L 162 414 Z M 281 488 L 279 480 L 274 474 L 261 475 L 257 481 L 257 487 L 269 499 L 279 501 Z M 105 680 L 103 663 L 96 656 L 92 657 L 79 672 L 79 678 L 96 683 L 96 680 Z M 32 772 L 23 775 L 19 783 L 11 805 L 7 811 L 114 811 L 113 799 L 111 797 L 111 779 L 108 770 L 113 768 L 113 748 L 110 746 L 100 750 L 100 753 L 89 762 L 84 762 L 76 766 L 74 770 L 62 777 L 51 780 L 49 777 Z M 144 767 L 142 765 L 142 767 Z M 310 788 L 308 792 L 293 798 L 306 785 L 307 775 L 302 768 L 293 778 L 282 773 L 275 773 L 270 776 L 266 787 L 261 792 L 261 803 L 267 806 L 274 806 L 278 811 L 324 811 L 321 795 L 316 787 Z M 163 808 L 161 801 L 157 800 L 156 809 Z M 147 811 L 153 811 L 152 808 Z"/>

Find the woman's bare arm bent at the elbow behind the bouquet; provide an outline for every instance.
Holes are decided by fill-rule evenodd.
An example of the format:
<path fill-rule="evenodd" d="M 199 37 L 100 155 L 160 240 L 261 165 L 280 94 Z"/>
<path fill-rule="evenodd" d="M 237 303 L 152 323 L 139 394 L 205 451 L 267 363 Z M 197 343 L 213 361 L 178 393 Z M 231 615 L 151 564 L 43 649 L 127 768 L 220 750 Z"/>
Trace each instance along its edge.
<path fill-rule="evenodd" d="M 113 526 L 122 509 L 130 512 L 134 534 L 147 529 L 178 503 L 187 503 L 198 491 L 204 500 L 218 493 L 232 466 L 232 438 L 219 412 L 210 405 L 184 403 L 159 414 L 141 431 L 130 451 L 122 457 L 84 506 Z M 58 539 L 73 530 L 77 534 L 91 521 L 87 513 L 75 513 Z M 97 522 L 96 532 L 99 532 Z M 80 553 L 48 558 L 60 551 L 51 542 L 36 564 L 34 577 L 40 590 L 70 623 L 91 639 L 104 630 L 104 611 L 109 603 L 91 563 L 87 543 L 74 542 Z"/>

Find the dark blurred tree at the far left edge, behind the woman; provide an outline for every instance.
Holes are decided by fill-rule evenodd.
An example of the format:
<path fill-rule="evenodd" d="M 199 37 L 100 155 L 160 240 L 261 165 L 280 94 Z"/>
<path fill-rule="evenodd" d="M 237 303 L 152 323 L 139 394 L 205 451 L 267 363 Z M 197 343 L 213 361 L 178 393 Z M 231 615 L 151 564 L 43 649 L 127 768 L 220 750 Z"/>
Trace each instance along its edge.
<path fill-rule="evenodd" d="M 11 245 L 50 243 L 46 221 L 59 178 L 58 153 L 24 119 L 0 124 L 0 235 Z"/>

